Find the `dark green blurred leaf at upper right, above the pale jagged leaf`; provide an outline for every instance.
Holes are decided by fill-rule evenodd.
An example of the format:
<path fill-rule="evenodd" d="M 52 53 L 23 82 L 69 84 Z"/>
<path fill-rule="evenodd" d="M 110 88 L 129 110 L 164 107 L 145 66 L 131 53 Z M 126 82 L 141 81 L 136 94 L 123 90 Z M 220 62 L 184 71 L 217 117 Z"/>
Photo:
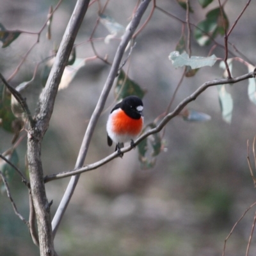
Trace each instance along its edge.
<path fill-rule="evenodd" d="M 199 45 L 208 45 L 211 38 L 225 35 L 224 28 L 228 29 L 228 18 L 224 9 L 222 9 L 223 19 L 221 17 L 221 9 L 215 8 L 207 13 L 206 19 L 199 22 L 195 28 L 194 35 Z M 223 24 L 224 23 L 224 24 Z"/>

